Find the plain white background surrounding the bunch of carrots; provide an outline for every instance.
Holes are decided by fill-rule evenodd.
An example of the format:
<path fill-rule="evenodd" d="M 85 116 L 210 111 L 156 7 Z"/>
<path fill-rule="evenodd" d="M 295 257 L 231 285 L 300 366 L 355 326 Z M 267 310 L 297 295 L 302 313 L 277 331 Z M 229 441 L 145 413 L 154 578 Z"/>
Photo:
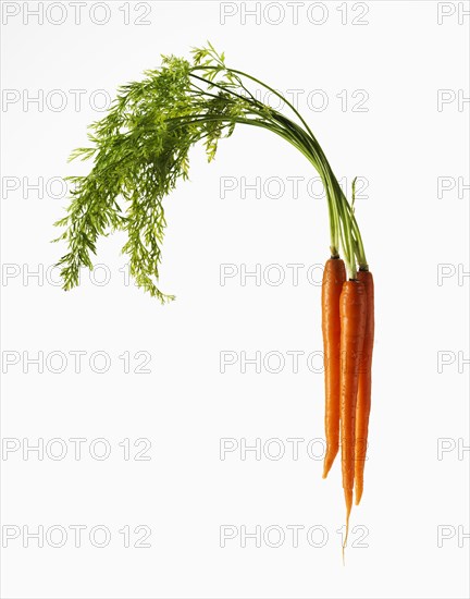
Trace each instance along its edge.
<path fill-rule="evenodd" d="M 2 549 L 2 597 L 468 597 L 469 539 L 462 533 L 469 531 L 469 452 L 459 455 L 457 449 L 469 444 L 469 366 L 460 365 L 459 372 L 457 356 L 469 357 L 469 282 L 463 277 L 459 284 L 457 272 L 458 265 L 460 272 L 469 270 L 469 192 L 459 197 L 455 187 L 437 196 L 440 176 L 469 183 L 469 103 L 457 101 L 459 90 L 469 96 L 469 16 L 460 15 L 459 24 L 458 13 L 468 2 L 446 2 L 444 9 L 426 1 L 347 3 L 346 13 L 346 4 L 341 12 L 339 2 L 325 2 L 324 15 L 305 2 L 298 24 L 285 3 L 279 24 L 273 22 L 281 3 L 271 3 L 269 13 L 258 9 L 259 23 L 245 20 L 235 3 L 131 3 L 127 25 L 124 2 L 107 3 L 110 16 L 102 25 L 92 21 L 102 20 L 103 9 L 89 11 L 96 2 L 83 9 L 79 24 L 72 3 L 63 2 L 64 23 L 46 16 L 42 25 L 27 14 L 37 2 L 2 4 L 3 11 L 5 4 L 20 11 L 3 13 L 1 48 L 2 87 L 13 90 L 2 107 L 2 436 L 18 439 L 22 448 L 39 438 L 87 440 L 79 461 L 70 443 L 58 461 L 47 453 L 40 461 L 34 452 L 25 460 L 21 449 L 3 451 L 2 531 L 78 524 L 87 529 L 79 548 L 72 533 L 62 548 L 47 539 L 42 548 L 34 539 L 25 548 L 23 535 L 10 540 Z M 46 14 L 48 3 L 39 4 Z M 363 10 L 368 24 L 354 25 Z M 441 24 L 440 10 L 449 13 Z M 222 24 L 221 11 L 236 14 Z M 149 24 L 136 25 L 144 12 Z M 323 24 L 311 22 L 322 16 Z M 87 164 L 66 164 L 66 158 L 86 144 L 86 126 L 103 114 L 94 91 L 112 95 L 158 66 L 160 53 L 188 56 L 206 39 L 225 50 L 230 65 L 284 93 L 301 89 L 306 98 L 324 90 L 325 110 L 312 110 L 305 99 L 299 108 L 337 176 L 369 182 L 357 213 L 376 289 L 373 411 L 364 496 L 351 516 L 352 526 L 366 527 L 351 539 L 366 530 L 367 547 L 349 547 L 346 566 L 336 533 L 344 524 L 339 463 L 322 480 L 321 459 L 306 449 L 323 437 L 323 378 L 306 363 L 322 349 L 320 288 L 306 272 L 327 258 L 329 229 L 324 200 L 307 190 L 316 173 L 294 148 L 268 132 L 239 127 L 220 144 L 213 163 L 194 150 L 190 182 L 165 203 L 161 286 L 176 294 L 171 305 L 124 284 L 124 240 L 118 235 L 99 244 L 96 260 L 104 265 L 101 274 L 110 274 L 109 284 L 92 284 L 84 272 L 82 285 L 65 294 L 51 284 L 52 274 L 27 277 L 38 265 L 46 271 L 63 253 L 49 241 L 66 205 L 57 192 L 39 197 L 27 184 L 86 172 Z M 72 89 L 85 90 L 79 107 Z M 352 111 L 354 102 L 342 111 L 336 95 L 344 89 L 366 90 L 368 111 Z M 441 111 L 440 89 L 456 97 Z M 38 90 L 44 103 L 28 103 Z M 227 176 L 238 187 L 221 198 L 221 178 Z M 253 183 L 257 176 L 262 185 L 281 178 L 285 192 L 272 197 L 273 184 L 258 198 L 250 191 L 243 198 L 242 178 Z M 292 176 L 302 178 L 297 198 Z M 13 178 L 20 184 L 11 191 Z M 244 285 L 238 273 L 221 285 L 223 264 L 238 272 L 242 265 L 253 270 L 259 264 L 262 273 L 277 264 L 285 281 L 273 285 L 261 278 L 257 285 L 250 278 Z M 288 264 L 305 265 L 298 284 Z M 456 269 L 441 285 L 440 264 L 452 265 L 446 272 Z M 318 281 L 321 272 L 312 272 Z M 87 352 L 81 374 L 69 354 L 77 350 Z M 97 351 L 110 356 L 108 372 L 89 367 Z M 148 352 L 151 374 L 134 372 L 140 363 L 134 358 L 125 374 L 119 356 L 126 351 Z M 305 354 L 297 374 L 289 362 L 279 374 L 264 367 L 256 374 L 253 366 L 242 374 L 239 362 L 221 374 L 221 351 Z M 69 362 L 62 374 L 38 374 L 34 365 L 24 372 L 23 352 L 62 352 Z M 438 352 L 455 356 L 442 372 Z M 5 355 L 18 355 L 18 364 L 5 366 Z M 89 442 L 97 438 L 112 447 L 108 460 L 90 456 Z M 119 443 L 125 438 L 149 439 L 151 460 L 123 460 Z M 273 460 L 261 451 L 256 460 L 247 452 L 242 460 L 238 449 L 221 460 L 223 438 L 238 444 L 259 438 L 262 447 L 277 438 L 285 454 Z M 305 440 L 297 460 L 290 438 Z M 438 439 L 456 445 L 441 460 Z M 88 540 L 96 525 L 111 534 L 101 549 Z M 151 547 L 123 547 L 119 529 L 125 525 L 151 528 Z M 238 531 L 225 548 L 223 525 Z M 275 530 L 268 541 L 261 535 L 261 547 L 249 538 L 242 547 L 243 526 L 248 533 L 261 526 L 262 534 L 270 525 L 285 533 L 281 547 L 269 546 Z M 305 527 L 298 547 L 287 528 L 293 525 Z M 326 533 L 323 547 L 308 542 L 312 526 Z M 440 526 L 448 526 L 452 537 L 442 547 Z"/>

